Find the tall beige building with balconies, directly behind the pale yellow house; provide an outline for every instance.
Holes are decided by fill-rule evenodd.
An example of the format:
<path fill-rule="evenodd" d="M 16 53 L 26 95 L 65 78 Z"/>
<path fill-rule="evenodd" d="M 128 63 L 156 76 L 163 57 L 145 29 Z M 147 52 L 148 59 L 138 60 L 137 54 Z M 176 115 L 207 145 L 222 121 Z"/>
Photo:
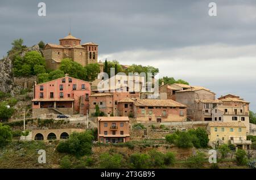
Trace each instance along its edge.
<path fill-rule="evenodd" d="M 212 109 L 212 121 L 242 122 L 246 126 L 247 135 L 250 131 L 249 102 L 239 98 L 221 98 L 222 105 Z"/>

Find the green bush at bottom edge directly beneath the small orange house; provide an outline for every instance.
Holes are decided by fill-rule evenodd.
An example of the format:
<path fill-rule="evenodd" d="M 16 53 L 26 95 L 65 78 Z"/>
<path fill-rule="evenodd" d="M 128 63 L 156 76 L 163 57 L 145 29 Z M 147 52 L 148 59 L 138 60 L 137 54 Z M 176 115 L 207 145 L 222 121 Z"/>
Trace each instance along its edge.
<path fill-rule="evenodd" d="M 102 169 L 118 169 L 121 168 L 122 164 L 122 155 L 110 155 L 109 153 L 103 153 L 100 155 L 100 168 Z"/>

